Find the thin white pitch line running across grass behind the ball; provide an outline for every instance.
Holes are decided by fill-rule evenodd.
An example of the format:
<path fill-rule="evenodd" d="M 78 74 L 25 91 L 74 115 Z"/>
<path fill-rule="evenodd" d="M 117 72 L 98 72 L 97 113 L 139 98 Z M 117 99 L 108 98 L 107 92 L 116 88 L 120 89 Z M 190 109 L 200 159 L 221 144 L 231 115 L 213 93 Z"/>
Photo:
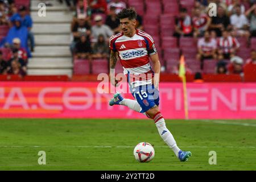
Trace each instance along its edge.
<path fill-rule="evenodd" d="M 180 146 L 184 148 L 256 148 L 255 146 Z M 0 146 L 0 148 L 134 148 L 134 146 Z M 154 148 L 168 148 L 168 146 L 154 146 Z"/>

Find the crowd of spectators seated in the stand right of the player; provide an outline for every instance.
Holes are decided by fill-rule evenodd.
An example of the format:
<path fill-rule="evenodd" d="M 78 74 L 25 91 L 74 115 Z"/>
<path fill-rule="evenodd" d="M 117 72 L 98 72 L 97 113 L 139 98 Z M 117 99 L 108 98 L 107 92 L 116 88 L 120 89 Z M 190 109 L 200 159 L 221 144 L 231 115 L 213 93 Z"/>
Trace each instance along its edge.
<path fill-rule="evenodd" d="M 216 16 L 212 14 L 209 3 L 216 3 Z M 255 45 L 251 45 L 251 39 L 256 37 L 256 1 L 195 1 L 190 13 L 186 8 L 180 8 L 179 15 L 175 18 L 174 36 L 195 39 L 196 60 L 201 63 L 201 70 L 204 68 L 204 61 L 213 59 L 216 60 L 216 67 L 212 69 L 216 73 L 242 76 L 246 64 L 256 64 Z M 246 50 L 249 49 L 250 55 L 246 55 Z M 239 51 L 245 55 L 238 56 Z M 187 67 L 189 72 L 189 65 Z M 175 70 L 177 68 L 174 72 Z"/>

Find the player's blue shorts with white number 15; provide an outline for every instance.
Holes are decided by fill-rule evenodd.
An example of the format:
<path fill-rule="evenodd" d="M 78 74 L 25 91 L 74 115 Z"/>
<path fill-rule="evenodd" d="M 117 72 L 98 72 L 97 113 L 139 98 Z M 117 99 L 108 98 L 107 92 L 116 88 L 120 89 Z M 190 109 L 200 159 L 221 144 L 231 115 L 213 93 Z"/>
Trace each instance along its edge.
<path fill-rule="evenodd" d="M 133 97 L 142 108 L 141 113 L 145 113 L 155 105 L 159 105 L 159 91 L 155 89 L 154 85 L 141 85 L 130 89 Z"/>

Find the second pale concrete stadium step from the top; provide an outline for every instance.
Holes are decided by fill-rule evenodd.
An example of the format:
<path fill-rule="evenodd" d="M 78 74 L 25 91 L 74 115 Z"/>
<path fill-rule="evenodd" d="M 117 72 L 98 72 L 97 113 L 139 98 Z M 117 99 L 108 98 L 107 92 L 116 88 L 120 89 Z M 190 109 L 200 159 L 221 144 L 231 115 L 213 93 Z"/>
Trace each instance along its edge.
<path fill-rule="evenodd" d="M 31 16 L 34 23 L 71 23 L 73 19 L 73 13 L 65 13 L 63 11 L 47 11 L 45 17 L 40 17 L 38 16 L 38 12 L 32 11 Z"/>

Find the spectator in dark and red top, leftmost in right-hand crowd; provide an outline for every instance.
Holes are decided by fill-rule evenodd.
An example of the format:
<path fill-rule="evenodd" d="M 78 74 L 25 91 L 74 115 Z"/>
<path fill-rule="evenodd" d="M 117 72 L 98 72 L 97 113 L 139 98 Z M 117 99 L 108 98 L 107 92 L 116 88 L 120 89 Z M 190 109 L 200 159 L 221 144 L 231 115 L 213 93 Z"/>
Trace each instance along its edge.
<path fill-rule="evenodd" d="M 192 20 L 185 8 L 181 8 L 179 17 L 175 18 L 174 36 L 193 36 Z"/>

